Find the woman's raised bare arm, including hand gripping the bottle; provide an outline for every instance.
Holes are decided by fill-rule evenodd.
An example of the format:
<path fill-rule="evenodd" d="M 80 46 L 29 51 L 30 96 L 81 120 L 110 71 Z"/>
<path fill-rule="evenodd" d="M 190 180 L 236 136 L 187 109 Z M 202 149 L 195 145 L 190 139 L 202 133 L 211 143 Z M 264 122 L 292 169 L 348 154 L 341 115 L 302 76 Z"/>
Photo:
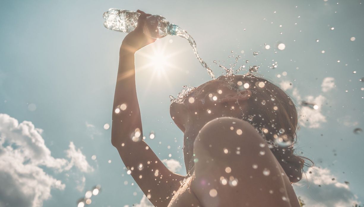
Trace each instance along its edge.
<path fill-rule="evenodd" d="M 142 120 L 135 87 L 134 54 L 155 40 L 143 33 L 146 15 L 140 12 L 137 28 L 120 47 L 118 76 L 112 110 L 111 142 L 149 200 L 167 206 L 184 176 L 172 173 L 142 140 Z M 134 138 L 133 138 L 134 137 Z"/>

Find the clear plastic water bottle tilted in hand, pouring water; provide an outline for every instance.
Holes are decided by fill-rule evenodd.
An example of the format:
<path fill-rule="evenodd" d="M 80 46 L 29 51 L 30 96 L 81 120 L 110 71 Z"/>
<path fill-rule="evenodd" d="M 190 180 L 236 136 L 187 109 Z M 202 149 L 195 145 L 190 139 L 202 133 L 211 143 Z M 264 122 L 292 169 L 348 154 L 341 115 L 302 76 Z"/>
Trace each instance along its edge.
<path fill-rule="evenodd" d="M 103 15 L 104 26 L 114 31 L 129 33 L 137 27 L 139 15 L 138 12 L 111 8 Z M 151 38 L 159 39 L 167 34 L 176 35 L 177 28 L 177 25 L 170 24 L 166 18 L 152 15 L 147 17 L 144 33 Z"/>

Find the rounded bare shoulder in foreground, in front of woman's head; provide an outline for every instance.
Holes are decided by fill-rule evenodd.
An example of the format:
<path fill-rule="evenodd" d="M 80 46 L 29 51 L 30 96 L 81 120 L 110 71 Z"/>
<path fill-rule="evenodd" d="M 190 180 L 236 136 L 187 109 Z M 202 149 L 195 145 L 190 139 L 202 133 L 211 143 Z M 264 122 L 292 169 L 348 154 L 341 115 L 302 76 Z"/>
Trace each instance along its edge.
<path fill-rule="evenodd" d="M 288 177 L 265 140 L 246 121 L 221 117 L 194 142 L 191 189 L 202 206 L 297 206 Z M 289 185 L 290 186 L 290 185 Z M 292 199 L 292 198 L 291 198 Z"/>

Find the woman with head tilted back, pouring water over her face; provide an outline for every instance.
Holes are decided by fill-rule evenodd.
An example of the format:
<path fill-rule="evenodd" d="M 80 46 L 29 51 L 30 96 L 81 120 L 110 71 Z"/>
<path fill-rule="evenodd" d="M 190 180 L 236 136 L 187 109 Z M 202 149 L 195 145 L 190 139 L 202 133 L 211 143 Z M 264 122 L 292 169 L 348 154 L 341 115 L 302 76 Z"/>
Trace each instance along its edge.
<path fill-rule="evenodd" d="M 168 170 L 143 137 L 134 54 L 155 40 L 146 14 L 120 47 L 112 113 L 112 145 L 157 207 L 299 207 L 292 183 L 304 160 L 293 154 L 297 111 L 279 87 L 253 75 L 220 76 L 170 105 L 184 132 L 187 176 Z"/>

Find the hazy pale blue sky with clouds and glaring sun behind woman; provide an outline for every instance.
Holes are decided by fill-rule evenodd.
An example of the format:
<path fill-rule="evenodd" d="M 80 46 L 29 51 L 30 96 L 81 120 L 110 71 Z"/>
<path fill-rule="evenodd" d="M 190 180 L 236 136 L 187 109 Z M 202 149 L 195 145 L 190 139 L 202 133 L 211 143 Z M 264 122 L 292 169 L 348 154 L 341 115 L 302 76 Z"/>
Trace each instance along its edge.
<path fill-rule="evenodd" d="M 105 126 L 126 35 L 104 28 L 109 8 L 141 9 L 179 25 L 217 76 L 223 71 L 213 61 L 229 67 L 237 55 L 238 66 L 260 66 L 300 110 L 296 152 L 315 166 L 294 184 L 297 195 L 310 207 L 364 202 L 364 135 L 354 132 L 364 127 L 363 0 L 2 0 L 0 207 L 77 206 L 96 185 L 90 207 L 151 206 Z M 210 77 L 177 36 L 138 51 L 135 67 L 143 130 L 155 132 L 146 142 L 185 175 L 169 95 Z"/>

